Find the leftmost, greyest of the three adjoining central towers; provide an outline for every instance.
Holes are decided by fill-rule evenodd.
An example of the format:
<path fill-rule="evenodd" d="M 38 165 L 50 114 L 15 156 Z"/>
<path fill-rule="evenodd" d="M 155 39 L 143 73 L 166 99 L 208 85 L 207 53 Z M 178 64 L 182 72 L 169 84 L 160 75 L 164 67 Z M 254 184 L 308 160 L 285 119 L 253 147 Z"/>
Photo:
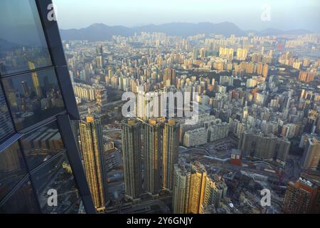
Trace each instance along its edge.
<path fill-rule="evenodd" d="M 126 195 L 136 198 L 142 194 L 141 125 L 135 119 L 123 120 L 122 154 Z"/>

